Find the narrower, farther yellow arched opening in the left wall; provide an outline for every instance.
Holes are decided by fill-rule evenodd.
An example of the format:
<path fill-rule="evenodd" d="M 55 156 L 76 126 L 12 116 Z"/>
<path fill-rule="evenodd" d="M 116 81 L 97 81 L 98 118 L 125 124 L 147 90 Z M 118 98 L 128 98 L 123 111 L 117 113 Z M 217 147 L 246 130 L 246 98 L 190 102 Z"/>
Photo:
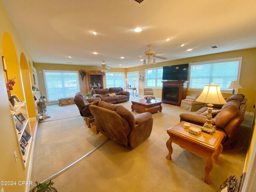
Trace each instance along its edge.
<path fill-rule="evenodd" d="M 20 54 L 20 68 L 21 68 L 24 93 L 25 93 L 25 98 L 26 98 L 26 103 L 28 108 L 28 116 L 29 118 L 33 118 L 33 117 L 36 117 L 35 104 L 34 104 L 35 100 L 32 93 L 30 72 L 28 70 L 28 62 L 23 52 L 21 52 Z"/>

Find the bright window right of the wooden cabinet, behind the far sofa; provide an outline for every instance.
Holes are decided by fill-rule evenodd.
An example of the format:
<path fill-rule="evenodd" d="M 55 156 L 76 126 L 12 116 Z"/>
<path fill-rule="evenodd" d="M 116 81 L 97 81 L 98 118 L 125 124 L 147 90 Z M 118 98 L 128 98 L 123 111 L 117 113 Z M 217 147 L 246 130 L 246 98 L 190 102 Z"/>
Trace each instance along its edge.
<path fill-rule="evenodd" d="M 106 87 L 124 87 L 124 73 L 106 72 Z"/>

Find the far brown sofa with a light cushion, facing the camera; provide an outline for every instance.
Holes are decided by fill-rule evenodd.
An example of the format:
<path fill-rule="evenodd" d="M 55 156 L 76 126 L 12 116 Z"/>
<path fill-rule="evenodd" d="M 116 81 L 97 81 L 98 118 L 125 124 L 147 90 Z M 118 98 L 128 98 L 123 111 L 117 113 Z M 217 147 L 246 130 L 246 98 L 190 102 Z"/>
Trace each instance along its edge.
<path fill-rule="evenodd" d="M 109 96 L 109 94 L 116 94 L 116 96 Z M 102 101 L 107 103 L 122 103 L 129 101 L 130 93 L 128 91 L 124 91 L 122 87 L 110 87 L 106 89 L 92 89 L 91 90 L 92 97 L 98 97 Z"/>

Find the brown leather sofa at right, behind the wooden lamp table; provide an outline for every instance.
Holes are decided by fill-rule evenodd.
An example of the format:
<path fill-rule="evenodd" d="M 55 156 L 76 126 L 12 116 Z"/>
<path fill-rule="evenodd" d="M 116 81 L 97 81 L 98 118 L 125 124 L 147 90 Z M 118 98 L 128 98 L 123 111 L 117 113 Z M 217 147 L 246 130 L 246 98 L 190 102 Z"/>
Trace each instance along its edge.
<path fill-rule="evenodd" d="M 212 124 L 216 126 L 216 130 L 225 133 L 225 138 L 222 140 L 224 148 L 232 147 L 236 141 L 237 130 L 244 120 L 246 101 L 247 99 L 244 98 L 243 94 L 234 94 L 226 99 L 227 104 L 213 104 Z M 203 107 L 194 114 L 182 113 L 180 114 L 180 121 L 203 126 L 206 122 L 207 108 L 207 106 Z"/>

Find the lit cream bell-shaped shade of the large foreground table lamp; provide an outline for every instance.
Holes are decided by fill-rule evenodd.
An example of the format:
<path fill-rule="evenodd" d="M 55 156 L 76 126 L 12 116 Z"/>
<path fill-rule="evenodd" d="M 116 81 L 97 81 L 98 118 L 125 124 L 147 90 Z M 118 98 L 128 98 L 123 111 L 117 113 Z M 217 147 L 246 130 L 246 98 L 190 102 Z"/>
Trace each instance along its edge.
<path fill-rule="evenodd" d="M 198 102 L 202 103 L 211 103 L 211 104 L 226 104 L 227 102 L 224 100 L 219 85 L 206 85 L 204 87 L 203 92 L 196 99 Z"/>

